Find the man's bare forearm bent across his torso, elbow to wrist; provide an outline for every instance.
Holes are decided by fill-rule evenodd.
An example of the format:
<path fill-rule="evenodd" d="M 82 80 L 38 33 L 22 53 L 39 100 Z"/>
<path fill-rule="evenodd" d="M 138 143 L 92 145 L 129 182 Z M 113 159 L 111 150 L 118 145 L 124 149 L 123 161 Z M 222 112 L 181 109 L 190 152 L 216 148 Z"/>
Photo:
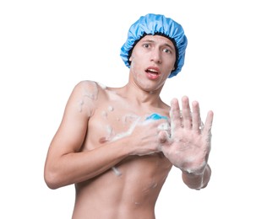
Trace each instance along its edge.
<path fill-rule="evenodd" d="M 79 183 L 102 174 L 129 154 L 125 140 L 108 142 L 85 152 L 70 152 L 46 161 L 45 180 L 51 189 Z"/>

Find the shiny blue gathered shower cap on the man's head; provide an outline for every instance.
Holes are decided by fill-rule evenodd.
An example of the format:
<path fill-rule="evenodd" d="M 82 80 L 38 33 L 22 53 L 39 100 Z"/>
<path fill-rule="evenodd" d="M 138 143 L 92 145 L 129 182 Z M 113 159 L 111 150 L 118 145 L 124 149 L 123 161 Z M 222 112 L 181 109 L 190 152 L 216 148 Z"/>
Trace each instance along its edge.
<path fill-rule="evenodd" d="M 172 70 L 169 78 L 176 76 L 184 65 L 185 51 L 188 44 L 181 24 L 177 24 L 173 19 L 168 19 L 161 14 L 148 13 L 141 16 L 128 30 L 128 39 L 121 48 L 120 56 L 127 67 L 130 67 L 129 57 L 132 54 L 133 47 L 144 35 L 162 35 L 172 40 L 177 56 L 175 69 Z"/>

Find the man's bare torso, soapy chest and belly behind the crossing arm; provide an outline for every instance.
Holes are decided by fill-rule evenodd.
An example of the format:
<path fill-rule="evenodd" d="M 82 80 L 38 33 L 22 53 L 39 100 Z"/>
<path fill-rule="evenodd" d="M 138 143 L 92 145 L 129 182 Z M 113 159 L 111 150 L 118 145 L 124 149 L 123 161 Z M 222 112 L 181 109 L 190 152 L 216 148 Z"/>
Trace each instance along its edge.
<path fill-rule="evenodd" d="M 95 108 L 82 151 L 104 147 L 104 142 L 122 136 L 138 118 L 144 120 L 154 112 L 168 114 L 167 106 L 146 111 L 129 105 L 118 90 L 96 87 Z M 73 219 L 154 219 L 155 201 L 171 168 L 161 152 L 123 159 L 105 173 L 75 185 Z"/>

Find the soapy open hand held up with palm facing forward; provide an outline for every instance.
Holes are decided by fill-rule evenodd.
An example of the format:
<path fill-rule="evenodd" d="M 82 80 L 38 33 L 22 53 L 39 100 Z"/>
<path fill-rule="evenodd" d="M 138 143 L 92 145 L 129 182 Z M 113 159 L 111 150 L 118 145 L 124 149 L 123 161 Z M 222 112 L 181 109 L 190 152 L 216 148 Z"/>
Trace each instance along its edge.
<path fill-rule="evenodd" d="M 210 153 L 213 112 L 209 111 L 203 125 L 199 103 L 193 101 L 192 111 L 188 97 L 182 98 L 182 110 L 177 99 L 172 99 L 171 136 L 159 133 L 161 151 L 170 162 L 189 174 L 203 174 Z"/>

